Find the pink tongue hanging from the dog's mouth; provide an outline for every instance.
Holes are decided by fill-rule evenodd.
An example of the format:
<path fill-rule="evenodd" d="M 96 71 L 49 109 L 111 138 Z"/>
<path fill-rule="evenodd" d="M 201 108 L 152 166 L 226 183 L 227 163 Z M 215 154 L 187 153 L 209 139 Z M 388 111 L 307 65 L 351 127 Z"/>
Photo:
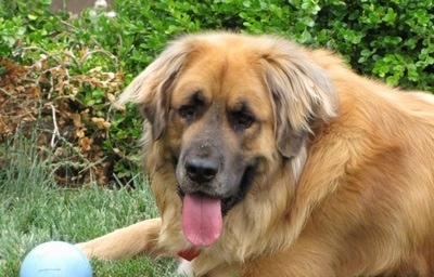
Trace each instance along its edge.
<path fill-rule="evenodd" d="M 220 199 L 187 194 L 182 205 L 182 232 L 196 247 L 212 246 L 221 234 Z"/>

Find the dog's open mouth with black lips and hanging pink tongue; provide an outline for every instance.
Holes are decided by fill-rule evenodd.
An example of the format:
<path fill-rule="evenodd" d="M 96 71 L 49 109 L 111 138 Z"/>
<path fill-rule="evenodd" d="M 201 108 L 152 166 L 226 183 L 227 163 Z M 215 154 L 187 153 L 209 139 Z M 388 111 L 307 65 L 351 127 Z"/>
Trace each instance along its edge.
<path fill-rule="evenodd" d="M 178 186 L 182 200 L 181 225 L 186 238 L 196 247 L 209 247 L 220 237 L 222 217 L 244 199 L 252 185 L 254 167 L 244 171 L 235 194 L 218 198 L 204 193 L 184 193 Z"/>

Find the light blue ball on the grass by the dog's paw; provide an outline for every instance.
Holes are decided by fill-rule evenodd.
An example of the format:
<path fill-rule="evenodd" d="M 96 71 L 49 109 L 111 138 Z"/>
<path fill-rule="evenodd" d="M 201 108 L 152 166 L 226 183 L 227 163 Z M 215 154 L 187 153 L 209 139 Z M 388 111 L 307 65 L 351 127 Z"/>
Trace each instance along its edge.
<path fill-rule="evenodd" d="M 26 255 L 20 277 L 92 277 L 92 267 L 77 247 L 63 241 L 49 241 Z"/>

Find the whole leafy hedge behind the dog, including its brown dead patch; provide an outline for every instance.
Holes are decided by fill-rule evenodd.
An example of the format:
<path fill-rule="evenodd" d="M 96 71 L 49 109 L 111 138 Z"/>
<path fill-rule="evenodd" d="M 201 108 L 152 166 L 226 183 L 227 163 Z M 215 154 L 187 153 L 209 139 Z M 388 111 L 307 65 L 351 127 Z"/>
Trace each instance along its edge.
<path fill-rule="evenodd" d="M 137 170 L 140 119 L 111 103 L 184 32 L 278 34 L 332 49 L 391 85 L 434 91 L 427 0 L 124 0 L 115 17 L 92 9 L 53 14 L 49 4 L 0 5 L 0 140 L 38 119 L 40 147 L 58 155 L 55 174 L 66 182 L 93 176 L 105 184 Z"/>

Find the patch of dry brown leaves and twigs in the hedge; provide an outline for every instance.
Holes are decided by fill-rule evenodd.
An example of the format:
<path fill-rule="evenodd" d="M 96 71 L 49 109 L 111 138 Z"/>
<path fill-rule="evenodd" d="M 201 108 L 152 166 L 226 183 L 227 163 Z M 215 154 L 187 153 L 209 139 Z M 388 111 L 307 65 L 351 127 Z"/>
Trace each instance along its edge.
<path fill-rule="evenodd" d="M 107 153 L 103 143 L 110 140 L 111 113 L 116 109 L 112 104 L 124 75 L 101 66 L 77 74 L 77 65 L 101 51 L 40 52 L 28 67 L 0 60 L 0 143 L 17 130 L 28 136 L 37 130 L 38 146 L 51 149 L 51 155 L 44 150 L 42 156 L 56 167 L 53 172 L 60 184 L 97 180 L 104 185 L 116 153 Z"/>

